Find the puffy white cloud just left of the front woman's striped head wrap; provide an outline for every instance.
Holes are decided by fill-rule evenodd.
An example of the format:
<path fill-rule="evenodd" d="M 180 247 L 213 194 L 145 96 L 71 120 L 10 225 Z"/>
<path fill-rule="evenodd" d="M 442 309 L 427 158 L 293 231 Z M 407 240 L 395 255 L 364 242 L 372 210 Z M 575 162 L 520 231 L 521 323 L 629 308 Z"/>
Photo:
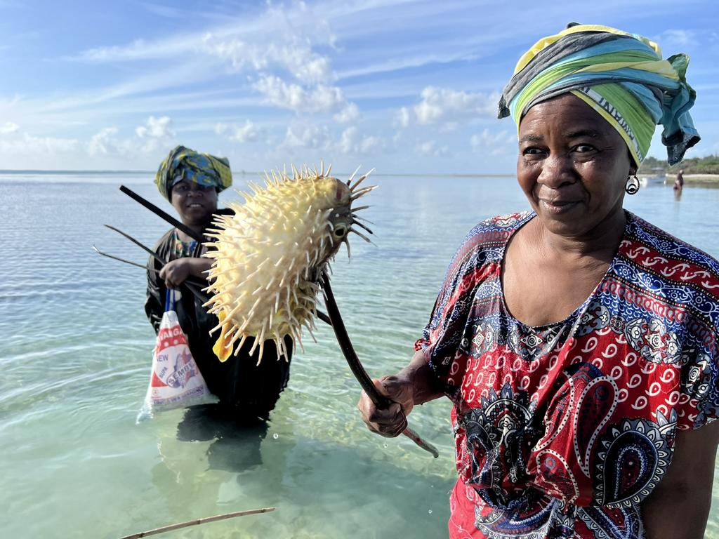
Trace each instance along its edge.
<path fill-rule="evenodd" d="M 434 86 L 424 88 L 421 96 L 421 103 L 414 107 L 417 123 L 421 125 L 491 116 L 499 101 L 498 94 L 468 93 Z"/>

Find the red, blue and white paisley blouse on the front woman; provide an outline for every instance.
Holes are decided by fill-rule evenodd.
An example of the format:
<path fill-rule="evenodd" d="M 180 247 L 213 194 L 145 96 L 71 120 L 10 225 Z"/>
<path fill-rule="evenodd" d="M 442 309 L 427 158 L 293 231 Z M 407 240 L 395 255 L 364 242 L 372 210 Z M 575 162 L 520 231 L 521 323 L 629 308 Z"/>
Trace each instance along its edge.
<path fill-rule="evenodd" d="M 676 430 L 718 415 L 719 262 L 627 212 L 592 295 L 530 327 L 500 271 L 534 216 L 470 231 L 416 344 L 454 402 L 450 537 L 644 537 Z"/>

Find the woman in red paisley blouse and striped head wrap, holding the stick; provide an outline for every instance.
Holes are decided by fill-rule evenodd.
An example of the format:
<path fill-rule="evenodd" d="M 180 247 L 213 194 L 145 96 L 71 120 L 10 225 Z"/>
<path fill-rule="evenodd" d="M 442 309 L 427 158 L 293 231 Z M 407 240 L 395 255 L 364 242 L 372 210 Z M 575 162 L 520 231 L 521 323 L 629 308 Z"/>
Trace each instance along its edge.
<path fill-rule="evenodd" d="M 452 400 L 451 538 L 703 535 L 719 262 L 623 209 L 656 124 L 671 164 L 699 140 L 687 63 L 572 25 L 505 88 L 531 211 L 470 231 L 411 363 L 375 382 L 393 405 L 358 405 L 397 436 L 414 405 Z"/>

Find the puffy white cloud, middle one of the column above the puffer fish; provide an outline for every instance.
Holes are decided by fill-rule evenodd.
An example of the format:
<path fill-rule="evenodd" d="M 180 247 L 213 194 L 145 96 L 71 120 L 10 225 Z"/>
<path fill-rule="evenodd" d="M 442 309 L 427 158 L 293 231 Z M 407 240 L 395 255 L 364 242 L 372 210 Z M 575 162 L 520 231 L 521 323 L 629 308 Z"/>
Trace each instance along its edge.
<path fill-rule="evenodd" d="M 264 75 L 255 89 L 265 96 L 265 103 L 296 112 L 333 112 L 344 103 L 342 90 L 334 86 L 317 85 L 303 88 L 288 84 L 274 75 Z"/>

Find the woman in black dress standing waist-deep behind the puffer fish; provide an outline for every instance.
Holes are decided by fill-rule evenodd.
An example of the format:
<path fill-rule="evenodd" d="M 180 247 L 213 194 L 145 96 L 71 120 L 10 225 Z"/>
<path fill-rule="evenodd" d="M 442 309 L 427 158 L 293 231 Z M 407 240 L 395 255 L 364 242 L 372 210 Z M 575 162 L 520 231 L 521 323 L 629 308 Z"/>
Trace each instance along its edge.
<path fill-rule="evenodd" d="M 214 213 L 232 214 L 232 210 L 217 209 L 218 193 L 232 185 L 229 161 L 223 157 L 175 147 L 157 170 L 155 183 L 183 224 L 198 234 L 205 234 Z M 145 313 L 157 333 L 165 311 L 165 291 L 168 288 L 180 290 L 181 297 L 175 310 L 180 326 L 188 336 L 193 358 L 209 390 L 219 398 L 214 415 L 221 413 L 223 417 L 243 424 L 261 423 L 269 418 L 280 392 L 287 386 L 292 342 L 289 338 L 285 342 L 286 361 L 284 357 L 277 359 L 274 341 L 266 341 L 263 356 L 267 359 L 258 364 L 259 348 L 252 356 L 249 354 L 252 339 L 245 341 L 237 356 L 230 356 L 224 363 L 217 359 L 212 351 L 217 334 L 210 336 L 209 331 L 219 321 L 215 315 L 206 312 L 202 300 L 183 286 L 188 277 L 206 280 L 206 271 L 212 264 L 211 259 L 201 257 L 206 250 L 201 242 L 175 228 L 160 238 L 155 252 L 168 263 L 162 266 L 152 257 L 147 262 Z M 151 269 L 157 270 L 159 275 Z"/>

